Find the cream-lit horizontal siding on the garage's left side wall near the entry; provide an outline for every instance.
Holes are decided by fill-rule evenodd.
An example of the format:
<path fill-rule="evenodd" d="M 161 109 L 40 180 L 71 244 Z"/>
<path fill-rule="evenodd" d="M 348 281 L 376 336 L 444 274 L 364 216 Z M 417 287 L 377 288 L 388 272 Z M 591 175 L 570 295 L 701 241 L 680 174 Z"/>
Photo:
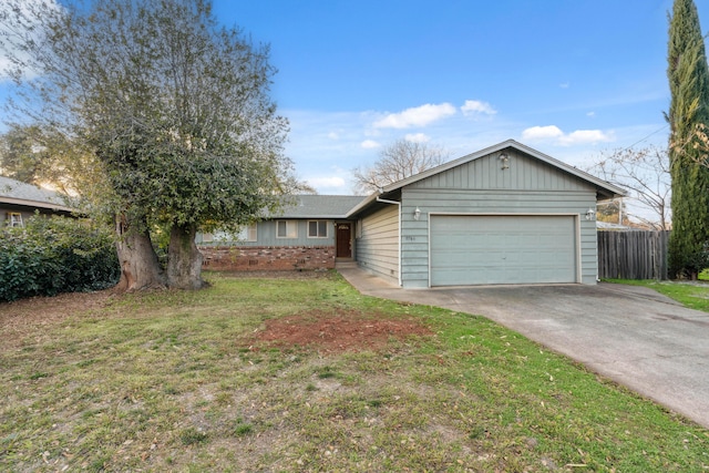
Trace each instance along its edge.
<path fill-rule="evenodd" d="M 387 207 L 359 222 L 356 251 L 358 265 L 399 284 L 399 206 Z"/>

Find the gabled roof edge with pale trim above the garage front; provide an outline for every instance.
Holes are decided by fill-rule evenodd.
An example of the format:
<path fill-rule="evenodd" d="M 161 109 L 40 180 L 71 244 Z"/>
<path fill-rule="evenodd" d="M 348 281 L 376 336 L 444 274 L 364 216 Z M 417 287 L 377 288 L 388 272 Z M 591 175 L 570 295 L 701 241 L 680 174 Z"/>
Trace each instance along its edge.
<path fill-rule="evenodd" d="M 574 166 L 569 166 L 566 163 L 563 163 L 563 162 L 561 162 L 558 160 L 555 160 L 552 156 L 548 156 L 548 155 L 546 155 L 544 153 L 541 153 L 541 152 L 538 152 L 536 150 L 533 150 L 533 148 L 531 148 L 528 146 L 525 146 L 522 143 L 517 143 L 514 140 L 507 140 L 507 141 L 502 142 L 502 143 L 499 143 L 496 145 L 493 145 L 493 146 L 486 147 L 484 150 L 480 150 L 480 151 L 476 151 L 474 153 L 467 154 L 465 156 L 459 157 L 458 160 L 450 161 L 450 162 L 444 163 L 444 164 L 442 164 L 440 166 L 432 167 L 432 168 L 430 168 L 428 171 L 424 171 L 422 173 L 414 174 L 413 176 L 407 177 L 405 179 L 397 181 L 395 183 L 389 184 L 389 185 L 384 186 L 381 189 L 381 193 L 379 193 L 379 194 L 374 193 L 374 194 L 370 195 L 367 199 L 360 202 L 359 205 L 357 205 L 354 208 L 352 208 L 348 213 L 348 216 L 352 216 L 352 215 L 357 214 L 359 210 L 361 210 L 361 209 L 363 209 L 366 207 L 369 207 L 373 202 L 377 200 L 378 197 L 380 197 L 382 195 L 394 193 L 395 191 L 399 191 L 404 186 L 408 186 L 410 184 L 413 184 L 413 183 L 417 183 L 419 181 L 425 179 L 425 178 L 431 177 L 431 176 L 433 176 L 435 174 L 443 173 L 443 172 L 445 172 L 448 169 L 452 169 L 453 167 L 463 165 L 465 163 L 470 163 L 471 161 L 475 161 L 477 158 L 487 156 L 487 155 L 490 155 L 492 153 L 497 153 L 497 152 L 501 152 L 503 150 L 511 148 L 511 147 L 515 148 L 515 150 L 517 150 L 517 151 L 520 151 L 522 153 L 526 153 L 527 155 L 530 155 L 532 157 L 535 157 L 535 158 L 537 158 L 537 160 L 540 160 L 540 161 L 542 161 L 542 162 L 544 162 L 544 163 L 546 163 L 546 164 L 548 164 L 551 166 L 554 166 L 554 167 L 556 167 L 556 168 L 558 168 L 558 169 L 561 169 L 563 172 L 572 174 L 572 175 L 578 177 L 579 179 L 592 184 L 593 186 L 596 187 L 596 192 L 597 192 L 597 195 L 598 195 L 599 198 L 614 198 L 614 197 L 619 197 L 619 196 L 626 195 L 626 192 L 623 188 L 618 187 L 618 186 L 615 186 L 615 185 L 613 185 L 613 184 L 610 184 L 610 183 L 608 183 L 606 181 L 603 181 L 603 179 L 600 179 L 600 178 L 598 178 L 596 176 L 593 176 L 593 175 L 590 175 L 588 173 L 585 173 L 585 172 L 583 172 L 580 169 L 577 169 Z"/>

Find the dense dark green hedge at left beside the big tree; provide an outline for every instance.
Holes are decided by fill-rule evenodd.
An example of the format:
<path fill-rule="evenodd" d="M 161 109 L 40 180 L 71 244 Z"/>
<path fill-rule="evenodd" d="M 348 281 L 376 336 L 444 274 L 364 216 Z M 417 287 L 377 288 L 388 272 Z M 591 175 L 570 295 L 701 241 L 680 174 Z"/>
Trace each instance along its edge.
<path fill-rule="evenodd" d="M 105 289 L 120 275 L 112 234 L 88 220 L 34 216 L 0 229 L 0 301 Z"/>

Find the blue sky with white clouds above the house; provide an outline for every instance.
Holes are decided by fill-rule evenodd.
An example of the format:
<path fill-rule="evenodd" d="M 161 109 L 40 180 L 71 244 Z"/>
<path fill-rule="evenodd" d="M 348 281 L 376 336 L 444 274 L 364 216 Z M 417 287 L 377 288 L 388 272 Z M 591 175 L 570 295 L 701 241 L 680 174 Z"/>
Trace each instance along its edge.
<path fill-rule="evenodd" d="M 395 140 L 455 158 L 513 138 L 578 167 L 665 145 L 671 3 L 214 0 L 270 44 L 286 154 L 321 194 L 351 193 L 351 169 Z"/>

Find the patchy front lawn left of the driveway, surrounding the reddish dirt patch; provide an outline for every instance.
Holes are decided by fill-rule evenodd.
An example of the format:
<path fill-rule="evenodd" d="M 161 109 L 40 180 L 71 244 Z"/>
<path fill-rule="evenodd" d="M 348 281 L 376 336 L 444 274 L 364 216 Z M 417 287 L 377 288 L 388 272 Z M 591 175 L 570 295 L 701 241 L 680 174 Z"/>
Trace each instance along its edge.
<path fill-rule="evenodd" d="M 709 470 L 706 429 L 487 319 L 364 297 L 337 275 L 209 277 L 0 347 L 0 471 Z M 435 335 L 254 349 L 268 319 L 338 310 Z"/>

